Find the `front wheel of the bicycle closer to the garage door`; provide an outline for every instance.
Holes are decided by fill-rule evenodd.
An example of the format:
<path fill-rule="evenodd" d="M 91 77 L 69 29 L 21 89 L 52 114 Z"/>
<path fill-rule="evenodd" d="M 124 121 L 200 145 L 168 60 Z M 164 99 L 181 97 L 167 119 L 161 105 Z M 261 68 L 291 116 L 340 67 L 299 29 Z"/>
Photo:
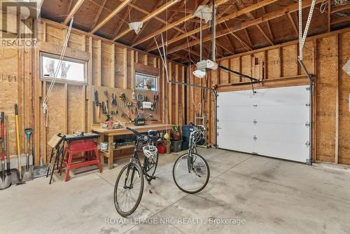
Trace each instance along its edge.
<path fill-rule="evenodd" d="M 180 156 L 173 167 L 173 178 L 176 186 L 185 193 L 198 193 L 207 186 L 209 181 L 209 166 L 207 161 L 197 153 Z M 190 168 L 189 166 L 190 165 Z"/>

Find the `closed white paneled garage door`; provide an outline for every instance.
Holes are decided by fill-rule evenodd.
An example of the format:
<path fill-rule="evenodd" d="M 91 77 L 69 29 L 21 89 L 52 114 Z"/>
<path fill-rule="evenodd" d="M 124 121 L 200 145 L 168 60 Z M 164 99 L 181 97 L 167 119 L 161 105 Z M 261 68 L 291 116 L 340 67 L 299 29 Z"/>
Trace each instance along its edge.
<path fill-rule="evenodd" d="M 218 147 L 307 163 L 309 86 L 218 94 Z"/>

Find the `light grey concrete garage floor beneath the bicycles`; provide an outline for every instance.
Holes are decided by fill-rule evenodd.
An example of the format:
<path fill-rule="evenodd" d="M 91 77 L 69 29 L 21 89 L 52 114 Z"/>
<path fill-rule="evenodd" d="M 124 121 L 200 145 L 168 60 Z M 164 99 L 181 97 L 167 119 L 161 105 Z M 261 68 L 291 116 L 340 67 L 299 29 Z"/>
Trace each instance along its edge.
<path fill-rule="evenodd" d="M 207 188 L 181 192 L 172 180 L 178 156 L 161 155 L 157 179 L 131 219 L 121 219 L 113 205 L 126 160 L 67 183 L 49 186 L 41 178 L 11 186 L 0 191 L 1 233 L 350 233 L 349 170 L 200 151 L 211 170 Z M 210 224 L 221 219 L 230 224 Z M 237 220 L 245 223 L 233 224 Z"/>

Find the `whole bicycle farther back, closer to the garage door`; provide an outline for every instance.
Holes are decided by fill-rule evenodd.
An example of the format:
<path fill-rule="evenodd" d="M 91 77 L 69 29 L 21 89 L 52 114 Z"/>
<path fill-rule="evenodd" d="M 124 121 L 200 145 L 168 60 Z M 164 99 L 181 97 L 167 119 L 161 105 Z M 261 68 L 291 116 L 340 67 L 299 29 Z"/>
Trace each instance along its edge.
<path fill-rule="evenodd" d="M 205 143 L 203 127 L 191 123 L 189 149 L 174 163 L 173 179 L 181 191 L 198 193 L 207 186 L 210 176 L 209 165 L 197 152 L 197 145 Z"/>

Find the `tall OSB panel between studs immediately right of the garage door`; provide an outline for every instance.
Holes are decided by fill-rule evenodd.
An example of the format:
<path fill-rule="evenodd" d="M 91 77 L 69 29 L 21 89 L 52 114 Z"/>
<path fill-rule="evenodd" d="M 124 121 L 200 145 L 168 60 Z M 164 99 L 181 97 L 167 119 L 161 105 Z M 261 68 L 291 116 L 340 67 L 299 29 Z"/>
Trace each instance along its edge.
<path fill-rule="evenodd" d="M 337 36 L 317 40 L 316 77 L 316 160 L 333 162 L 335 158 L 335 99 L 337 82 Z"/>

